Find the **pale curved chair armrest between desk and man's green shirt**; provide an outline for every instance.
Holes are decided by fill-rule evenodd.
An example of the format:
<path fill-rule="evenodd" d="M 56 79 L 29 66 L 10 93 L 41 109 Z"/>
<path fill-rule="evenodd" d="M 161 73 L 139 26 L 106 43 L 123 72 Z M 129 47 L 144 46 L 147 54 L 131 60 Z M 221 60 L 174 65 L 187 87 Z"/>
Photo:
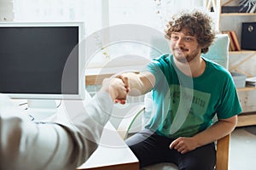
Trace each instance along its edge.
<path fill-rule="evenodd" d="M 117 128 L 117 132 L 119 133 L 122 139 L 126 139 L 132 123 L 135 121 L 137 116 L 144 112 L 144 110 L 144 105 L 136 105 L 125 114 L 124 119 L 119 123 L 119 127 Z"/>

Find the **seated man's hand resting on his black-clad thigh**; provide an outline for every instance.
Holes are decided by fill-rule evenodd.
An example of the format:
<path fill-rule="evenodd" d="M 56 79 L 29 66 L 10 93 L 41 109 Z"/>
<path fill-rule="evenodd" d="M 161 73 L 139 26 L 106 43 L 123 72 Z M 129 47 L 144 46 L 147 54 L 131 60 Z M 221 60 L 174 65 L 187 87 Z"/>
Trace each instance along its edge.
<path fill-rule="evenodd" d="M 170 144 L 169 148 L 177 150 L 181 154 L 185 154 L 191 150 L 195 150 L 196 142 L 193 138 L 180 137 Z"/>

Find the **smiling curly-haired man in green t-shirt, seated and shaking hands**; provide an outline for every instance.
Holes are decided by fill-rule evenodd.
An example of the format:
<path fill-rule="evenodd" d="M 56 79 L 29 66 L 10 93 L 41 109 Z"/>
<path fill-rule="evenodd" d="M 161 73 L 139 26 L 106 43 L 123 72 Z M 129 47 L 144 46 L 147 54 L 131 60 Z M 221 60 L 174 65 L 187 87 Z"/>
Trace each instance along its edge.
<path fill-rule="evenodd" d="M 214 37 L 207 14 L 175 15 L 166 29 L 172 54 L 153 59 L 141 73 L 119 75 L 130 95 L 153 91 L 153 117 L 126 140 L 140 167 L 173 162 L 179 169 L 214 168 L 213 142 L 234 130 L 241 112 L 229 71 L 201 57 Z M 212 124 L 216 114 L 218 121 Z"/>

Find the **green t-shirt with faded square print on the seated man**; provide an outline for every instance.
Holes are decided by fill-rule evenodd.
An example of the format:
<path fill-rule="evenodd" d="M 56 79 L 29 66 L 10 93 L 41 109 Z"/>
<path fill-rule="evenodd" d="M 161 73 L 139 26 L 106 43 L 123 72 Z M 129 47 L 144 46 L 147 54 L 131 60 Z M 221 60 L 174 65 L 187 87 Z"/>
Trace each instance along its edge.
<path fill-rule="evenodd" d="M 191 137 L 211 126 L 212 118 L 235 116 L 241 112 L 230 72 L 205 59 L 200 77 L 188 77 L 177 69 L 172 54 L 153 59 L 147 71 L 154 74 L 153 114 L 146 126 L 156 133 L 176 139 Z"/>

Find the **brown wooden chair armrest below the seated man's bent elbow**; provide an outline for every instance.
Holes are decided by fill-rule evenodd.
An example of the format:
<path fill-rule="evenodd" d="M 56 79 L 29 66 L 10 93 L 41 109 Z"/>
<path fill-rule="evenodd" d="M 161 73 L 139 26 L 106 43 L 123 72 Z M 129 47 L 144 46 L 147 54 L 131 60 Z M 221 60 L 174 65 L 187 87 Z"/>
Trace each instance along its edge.
<path fill-rule="evenodd" d="M 216 170 L 229 169 L 229 154 L 230 154 L 230 134 L 224 136 L 217 141 L 217 161 Z"/>

